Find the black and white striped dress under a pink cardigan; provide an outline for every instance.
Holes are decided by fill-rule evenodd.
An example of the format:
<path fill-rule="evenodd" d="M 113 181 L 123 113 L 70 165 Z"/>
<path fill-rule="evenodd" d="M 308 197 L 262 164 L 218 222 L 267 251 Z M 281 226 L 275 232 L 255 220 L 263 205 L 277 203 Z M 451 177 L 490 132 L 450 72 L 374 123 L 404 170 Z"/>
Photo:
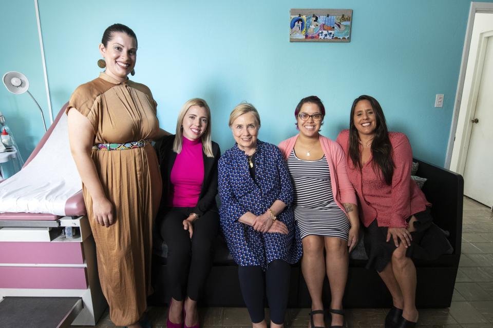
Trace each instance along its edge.
<path fill-rule="evenodd" d="M 325 155 L 318 160 L 302 160 L 293 149 L 288 168 L 294 188 L 294 219 L 301 238 L 318 235 L 348 240 L 351 223 L 334 200 Z"/>

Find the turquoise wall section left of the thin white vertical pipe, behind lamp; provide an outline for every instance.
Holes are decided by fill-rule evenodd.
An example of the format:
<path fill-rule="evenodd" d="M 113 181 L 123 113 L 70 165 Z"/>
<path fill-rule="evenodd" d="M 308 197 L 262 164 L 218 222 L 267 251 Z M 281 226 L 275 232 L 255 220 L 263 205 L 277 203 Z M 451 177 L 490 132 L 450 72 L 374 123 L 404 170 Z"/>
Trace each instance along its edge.
<path fill-rule="evenodd" d="M 0 4 L 0 39 L 0 77 L 8 71 L 18 71 L 26 75 L 30 84 L 29 91 L 45 111 L 46 125 L 49 126 L 43 62 L 33 1 L 3 1 Z M 14 95 L 0 83 L 0 111 L 5 115 L 21 155 L 26 160 L 45 132 L 39 108 L 27 93 Z M 6 171 L 8 173 L 8 166 Z"/>

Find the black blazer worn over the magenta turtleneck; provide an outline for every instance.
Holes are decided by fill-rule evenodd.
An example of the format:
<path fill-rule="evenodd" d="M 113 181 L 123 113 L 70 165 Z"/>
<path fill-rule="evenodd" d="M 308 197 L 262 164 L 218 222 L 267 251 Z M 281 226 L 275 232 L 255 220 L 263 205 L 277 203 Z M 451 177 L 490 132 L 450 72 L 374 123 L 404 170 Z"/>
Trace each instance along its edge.
<path fill-rule="evenodd" d="M 163 180 L 163 194 L 161 197 L 160 212 L 164 210 L 167 203 L 167 197 L 171 188 L 171 170 L 175 164 L 176 155 L 173 151 L 173 142 L 175 135 L 164 136 L 156 142 L 154 149 L 158 155 L 159 166 L 161 168 L 161 177 Z M 217 162 L 221 157 L 219 145 L 212 142 L 212 153 L 214 157 L 207 157 L 202 152 L 204 158 L 204 182 L 200 190 L 199 201 L 192 213 L 203 215 L 208 210 L 217 212 L 216 195 L 217 195 Z"/>

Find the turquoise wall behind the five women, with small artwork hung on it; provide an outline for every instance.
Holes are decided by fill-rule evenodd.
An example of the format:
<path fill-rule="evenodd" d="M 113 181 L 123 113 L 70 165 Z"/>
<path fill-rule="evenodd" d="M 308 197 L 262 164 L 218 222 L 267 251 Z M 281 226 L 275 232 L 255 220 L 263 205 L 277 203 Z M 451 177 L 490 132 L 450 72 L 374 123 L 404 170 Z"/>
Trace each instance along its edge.
<path fill-rule="evenodd" d="M 213 139 L 225 150 L 233 145 L 229 113 L 247 100 L 260 112 L 260 138 L 277 144 L 296 133 L 299 99 L 315 94 L 328 112 L 323 133 L 335 138 L 348 126 L 352 100 L 370 94 L 380 100 L 390 130 L 409 136 L 415 156 L 444 165 L 470 0 L 39 4 L 54 115 L 75 87 L 98 75 L 102 32 L 119 22 L 138 36 L 133 79 L 153 91 L 161 127 L 168 131 L 174 131 L 187 99 L 203 97 L 213 111 Z M 305 6 L 352 9 L 351 42 L 290 43 L 290 8 Z M 12 37 L 9 25 L 0 31 L 4 44 L 29 51 L 1 52 L 0 67 L 31 74 L 43 104 L 33 7 L 28 0 L 2 4 L 3 25 L 14 22 L 14 13 L 26 21 L 22 36 Z M 8 61 L 15 65 L 4 67 Z M 2 92 L 1 110 L 10 121 L 24 99 Z M 433 108 L 437 93 L 445 94 L 442 109 Z M 15 127 L 27 150 L 42 135 L 37 113 L 30 111 L 20 118 L 30 129 Z"/>

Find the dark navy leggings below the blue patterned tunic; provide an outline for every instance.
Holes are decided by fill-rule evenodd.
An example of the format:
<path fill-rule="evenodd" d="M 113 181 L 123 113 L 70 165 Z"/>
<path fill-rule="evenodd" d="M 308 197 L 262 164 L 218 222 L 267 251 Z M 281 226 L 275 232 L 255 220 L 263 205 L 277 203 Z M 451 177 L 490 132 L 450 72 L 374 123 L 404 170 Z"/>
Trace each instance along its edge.
<path fill-rule="evenodd" d="M 284 323 L 288 306 L 290 275 L 291 267 L 283 260 L 274 260 L 269 263 L 265 273 L 265 283 L 260 265 L 238 267 L 241 294 L 243 294 L 243 300 L 247 304 L 253 323 L 259 323 L 264 319 L 265 290 L 267 290 L 267 300 L 271 309 L 271 321 L 275 324 Z"/>

